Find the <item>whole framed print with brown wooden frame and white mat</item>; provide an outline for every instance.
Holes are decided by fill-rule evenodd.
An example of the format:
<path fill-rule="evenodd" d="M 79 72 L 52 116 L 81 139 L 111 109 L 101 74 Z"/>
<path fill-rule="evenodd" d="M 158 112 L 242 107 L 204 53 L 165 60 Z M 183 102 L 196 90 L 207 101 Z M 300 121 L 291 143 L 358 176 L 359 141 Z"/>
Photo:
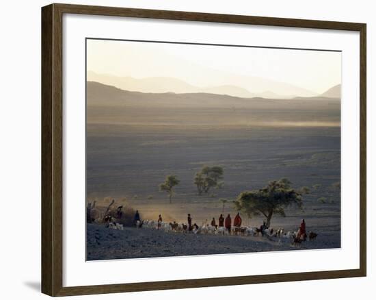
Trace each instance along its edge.
<path fill-rule="evenodd" d="M 42 292 L 365 275 L 365 24 L 42 8 Z"/>

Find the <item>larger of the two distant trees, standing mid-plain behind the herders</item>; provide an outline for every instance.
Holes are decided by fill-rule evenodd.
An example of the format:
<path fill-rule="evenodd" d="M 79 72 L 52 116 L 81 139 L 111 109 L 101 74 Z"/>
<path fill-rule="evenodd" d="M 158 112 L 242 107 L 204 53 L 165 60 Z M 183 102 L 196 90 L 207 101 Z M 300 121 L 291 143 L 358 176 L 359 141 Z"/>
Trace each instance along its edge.
<path fill-rule="evenodd" d="M 224 182 L 224 168 L 221 166 L 203 166 L 199 173 L 196 173 L 193 184 L 197 186 L 198 195 L 208 193 L 210 188 L 221 188 Z"/>

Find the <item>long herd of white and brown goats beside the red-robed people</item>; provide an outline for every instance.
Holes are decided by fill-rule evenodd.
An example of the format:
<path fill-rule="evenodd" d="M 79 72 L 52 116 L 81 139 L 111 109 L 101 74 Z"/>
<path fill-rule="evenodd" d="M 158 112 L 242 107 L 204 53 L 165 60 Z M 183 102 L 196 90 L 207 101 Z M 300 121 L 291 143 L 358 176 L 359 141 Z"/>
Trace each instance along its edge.
<path fill-rule="evenodd" d="M 111 220 L 108 220 L 107 226 L 111 229 L 118 229 L 118 230 L 124 230 L 124 227 L 120 223 L 116 223 L 115 218 L 111 218 Z M 192 234 L 214 234 L 214 235 L 221 235 L 221 236 L 265 236 L 267 238 L 284 238 L 286 240 L 291 240 L 293 245 L 298 245 L 302 241 L 306 240 L 315 240 L 317 238 L 317 234 L 314 232 L 309 232 L 308 236 L 302 238 L 298 237 L 297 232 L 294 231 L 288 231 L 285 232 L 284 228 L 278 228 L 276 230 L 273 230 L 272 228 L 267 228 L 261 230 L 257 227 L 231 227 L 230 230 L 228 230 L 225 227 L 218 227 L 218 226 L 212 226 L 212 225 L 202 225 L 199 226 L 197 224 L 194 224 L 189 230 L 188 225 L 183 223 L 176 223 L 174 222 L 157 222 L 153 220 L 144 220 L 144 221 L 137 221 L 135 224 L 135 227 L 137 228 L 150 228 L 150 229 L 157 229 L 162 230 L 163 232 L 180 232 L 180 233 L 189 233 Z"/>

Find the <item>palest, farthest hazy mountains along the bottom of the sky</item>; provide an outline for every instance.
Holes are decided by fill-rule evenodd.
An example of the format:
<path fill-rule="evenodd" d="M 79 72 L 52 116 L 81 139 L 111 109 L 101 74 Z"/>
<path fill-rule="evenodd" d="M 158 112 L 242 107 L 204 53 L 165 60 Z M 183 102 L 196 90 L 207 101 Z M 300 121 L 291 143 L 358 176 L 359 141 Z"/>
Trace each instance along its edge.
<path fill-rule="evenodd" d="M 328 95 L 336 95 L 336 89 L 334 89 L 333 91 L 331 91 L 332 89 L 330 89 L 323 95 L 315 95 L 313 92 L 310 92 L 303 88 L 298 88 L 280 82 L 271 82 L 267 79 L 260 79 L 257 77 L 239 77 L 239 81 L 242 81 L 244 83 L 249 80 L 250 82 L 252 82 L 252 84 L 250 84 L 251 86 L 258 86 L 258 88 L 260 88 L 260 86 L 273 86 L 273 92 L 270 90 L 265 90 L 263 92 L 250 92 L 250 90 L 231 84 L 198 87 L 187 84 L 187 82 L 173 77 L 147 77 L 137 79 L 133 77 L 117 77 L 112 75 L 97 74 L 92 71 L 88 71 L 87 80 L 88 82 L 100 82 L 109 86 L 115 86 L 116 88 L 121 88 L 122 90 L 152 93 L 174 92 L 176 94 L 187 94 L 204 92 L 208 94 L 230 95 L 241 98 L 262 97 L 267 99 L 292 99 L 295 97 L 317 96 L 332 97 L 324 96 L 324 94 L 326 93 L 328 93 Z M 340 93 L 338 95 L 340 95 Z"/>

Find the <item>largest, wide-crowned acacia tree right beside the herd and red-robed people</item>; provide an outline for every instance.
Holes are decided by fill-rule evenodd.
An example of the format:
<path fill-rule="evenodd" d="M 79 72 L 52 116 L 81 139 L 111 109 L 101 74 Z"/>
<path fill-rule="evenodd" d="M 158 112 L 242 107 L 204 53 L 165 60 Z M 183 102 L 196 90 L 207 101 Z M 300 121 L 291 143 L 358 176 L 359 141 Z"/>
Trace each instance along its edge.
<path fill-rule="evenodd" d="M 291 205 L 296 205 L 301 209 L 303 206 L 302 195 L 308 194 L 309 190 L 304 187 L 300 190 L 291 188 L 291 182 L 282 178 L 269 182 L 267 186 L 260 190 L 250 190 L 241 192 L 234 201 L 237 210 L 241 210 L 249 218 L 263 215 L 267 218 L 267 227 L 270 226 L 271 217 L 274 214 L 286 216 L 284 209 Z"/>

